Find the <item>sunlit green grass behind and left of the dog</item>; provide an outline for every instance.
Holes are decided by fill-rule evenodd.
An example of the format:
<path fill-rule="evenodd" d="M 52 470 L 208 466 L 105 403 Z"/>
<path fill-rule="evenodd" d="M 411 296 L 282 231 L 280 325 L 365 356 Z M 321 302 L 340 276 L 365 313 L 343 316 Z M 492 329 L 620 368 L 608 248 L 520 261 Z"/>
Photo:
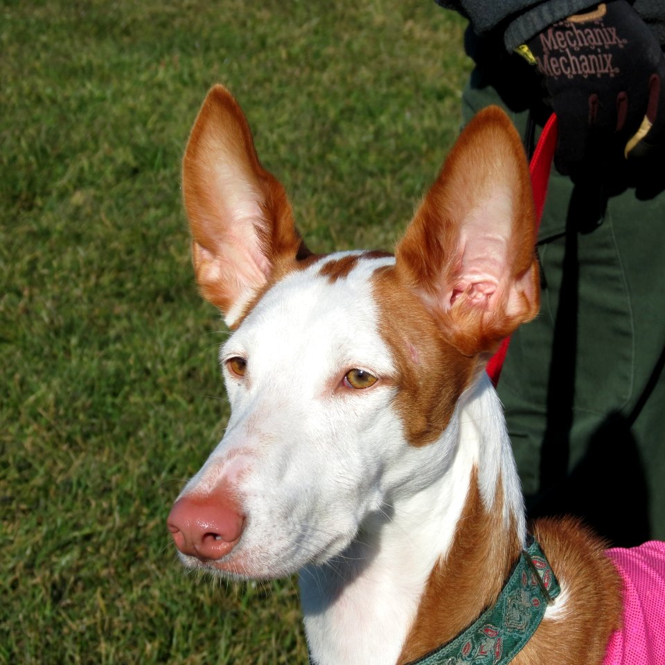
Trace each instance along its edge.
<path fill-rule="evenodd" d="M 0 663 L 305 663 L 294 580 L 186 574 L 170 504 L 228 415 L 179 161 L 242 103 L 315 251 L 390 249 L 459 125 L 427 0 L 0 8 Z"/>

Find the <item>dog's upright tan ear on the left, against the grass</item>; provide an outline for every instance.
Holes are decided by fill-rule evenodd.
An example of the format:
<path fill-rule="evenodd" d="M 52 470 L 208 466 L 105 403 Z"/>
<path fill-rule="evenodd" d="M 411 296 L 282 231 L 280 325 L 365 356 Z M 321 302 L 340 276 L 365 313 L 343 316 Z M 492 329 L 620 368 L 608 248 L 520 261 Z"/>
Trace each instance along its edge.
<path fill-rule="evenodd" d="M 306 248 L 284 188 L 261 166 L 245 115 L 221 85 L 192 128 L 182 183 L 199 289 L 234 327 L 280 266 Z"/>

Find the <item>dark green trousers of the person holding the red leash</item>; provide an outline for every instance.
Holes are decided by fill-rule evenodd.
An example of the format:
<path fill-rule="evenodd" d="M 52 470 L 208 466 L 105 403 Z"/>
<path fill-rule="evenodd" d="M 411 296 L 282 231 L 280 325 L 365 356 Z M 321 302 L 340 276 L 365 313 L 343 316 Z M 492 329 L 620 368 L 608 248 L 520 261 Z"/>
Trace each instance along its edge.
<path fill-rule="evenodd" d="M 499 104 L 537 139 L 547 114 L 521 71 L 477 67 L 464 120 Z M 540 314 L 498 387 L 529 516 L 578 515 L 623 546 L 665 540 L 664 189 L 665 151 L 584 181 L 553 169 Z"/>

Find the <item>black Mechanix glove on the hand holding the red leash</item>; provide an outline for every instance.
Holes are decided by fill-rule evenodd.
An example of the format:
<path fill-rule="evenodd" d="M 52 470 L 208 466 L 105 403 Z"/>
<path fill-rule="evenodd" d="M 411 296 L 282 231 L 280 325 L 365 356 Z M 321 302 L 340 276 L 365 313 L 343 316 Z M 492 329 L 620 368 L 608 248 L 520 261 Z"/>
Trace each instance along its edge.
<path fill-rule="evenodd" d="M 665 138 L 665 58 L 625 0 L 571 16 L 517 48 L 544 76 L 559 120 L 563 173 L 617 155 L 644 157 Z"/>

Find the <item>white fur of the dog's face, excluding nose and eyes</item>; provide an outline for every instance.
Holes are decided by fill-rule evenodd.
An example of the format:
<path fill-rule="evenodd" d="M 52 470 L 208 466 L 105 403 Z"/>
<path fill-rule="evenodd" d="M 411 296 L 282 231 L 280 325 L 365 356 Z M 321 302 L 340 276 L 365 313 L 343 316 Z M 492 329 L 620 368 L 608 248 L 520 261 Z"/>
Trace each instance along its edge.
<path fill-rule="evenodd" d="M 185 491 L 233 487 L 247 521 L 227 558 L 245 574 L 290 574 L 342 551 L 380 509 L 386 448 L 407 447 L 371 287 L 393 259 L 361 259 L 353 278 L 319 274 L 344 256 L 288 274 L 220 349 L 231 418 Z M 224 367 L 234 357 L 247 362 L 242 377 Z M 353 389 L 352 369 L 378 381 Z"/>

